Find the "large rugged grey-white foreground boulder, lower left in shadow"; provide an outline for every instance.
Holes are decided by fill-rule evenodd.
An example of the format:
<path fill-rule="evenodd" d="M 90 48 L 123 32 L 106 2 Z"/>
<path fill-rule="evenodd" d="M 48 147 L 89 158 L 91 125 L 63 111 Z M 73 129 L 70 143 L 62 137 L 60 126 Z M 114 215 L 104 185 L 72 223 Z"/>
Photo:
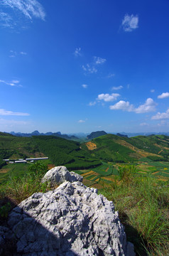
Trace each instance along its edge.
<path fill-rule="evenodd" d="M 80 181 L 34 193 L 13 208 L 8 224 L 15 256 L 135 255 L 114 204 Z"/>

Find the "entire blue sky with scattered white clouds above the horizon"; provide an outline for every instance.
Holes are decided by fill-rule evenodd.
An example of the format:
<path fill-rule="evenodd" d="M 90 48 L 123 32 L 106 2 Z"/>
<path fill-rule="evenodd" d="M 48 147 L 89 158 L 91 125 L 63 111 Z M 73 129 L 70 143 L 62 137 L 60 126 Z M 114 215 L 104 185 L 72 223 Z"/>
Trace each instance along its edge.
<path fill-rule="evenodd" d="M 2 132 L 168 132 L 169 1 L 1 0 Z"/>

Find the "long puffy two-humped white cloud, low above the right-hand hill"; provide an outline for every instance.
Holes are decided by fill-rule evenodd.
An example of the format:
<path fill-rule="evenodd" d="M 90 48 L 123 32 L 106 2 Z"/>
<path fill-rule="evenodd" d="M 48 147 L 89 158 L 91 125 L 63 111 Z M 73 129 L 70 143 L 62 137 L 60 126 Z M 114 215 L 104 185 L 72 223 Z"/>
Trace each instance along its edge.
<path fill-rule="evenodd" d="M 154 102 L 153 99 L 148 98 L 143 105 L 140 105 L 139 107 L 134 107 L 132 104 L 130 104 L 130 102 L 120 100 L 115 105 L 111 105 L 109 108 L 110 110 L 123 110 L 141 114 L 156 111 L 156 102 Z"/>

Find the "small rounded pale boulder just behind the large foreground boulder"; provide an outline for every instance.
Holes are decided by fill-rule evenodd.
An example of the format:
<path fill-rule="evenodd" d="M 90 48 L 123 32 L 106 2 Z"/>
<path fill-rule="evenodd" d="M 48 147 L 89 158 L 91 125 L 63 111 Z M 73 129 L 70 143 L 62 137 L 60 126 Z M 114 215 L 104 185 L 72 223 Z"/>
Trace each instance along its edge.
<path fill-rule="evenodd" d="M 53 169 L 50 169 L 42 179 L 42 183 L 45 181 L 50 181 L 50 184 L 55 185 L 62 183 L 64 181 L 80 181 L 82 182 L 82 176 L 70 172 L 65 166 L 55 166 Z"/>

